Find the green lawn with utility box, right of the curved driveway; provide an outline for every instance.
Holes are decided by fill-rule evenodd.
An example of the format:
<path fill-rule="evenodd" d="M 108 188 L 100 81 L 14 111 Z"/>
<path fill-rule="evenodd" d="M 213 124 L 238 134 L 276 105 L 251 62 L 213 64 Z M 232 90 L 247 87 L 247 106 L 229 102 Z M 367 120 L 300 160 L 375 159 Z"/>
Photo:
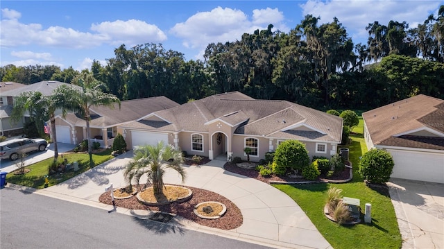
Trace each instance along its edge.
<path fill-rule="evenodd" d="M 363 130 L 362 119 L 355 130 Z M 354 131 L 355 131 L 354 130 Z M 371 189 L 357 173 L 359 157 L 366 153 L 362 133 L 351 136 L 350 161 L 353 164 L 353 180 L 343 184 L 273 185 L 284 191 L 304 210 L 311 222 L 323 234 L 333 248 L 401 248 L 402 239 L 395 210 L 387 189 Z M 357 225 L 338 225 L 323 214 L 327 190 L 342 189 L 342 195 L 361 200 L 361 221 Z M 366 203 L 372 205 L 372 223 L 364 223 Z"/>

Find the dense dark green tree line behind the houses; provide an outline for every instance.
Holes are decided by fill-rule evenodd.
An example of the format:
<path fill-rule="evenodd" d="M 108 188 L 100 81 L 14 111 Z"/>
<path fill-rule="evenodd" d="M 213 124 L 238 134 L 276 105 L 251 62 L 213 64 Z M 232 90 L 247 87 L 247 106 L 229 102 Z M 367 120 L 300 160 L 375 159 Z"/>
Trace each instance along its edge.
<path fill-rule="evenodd" d="M 444 6 L 416 28 L 406 22 L 368 24 L 367 44 L 354 44 L 334 18 L 319 24 L 307 15 L 289 33 L 245 33 L 235 42 L 212 43 L 203 60 L 139 44 L 114 49 L 106 65 L 90 69 L 121 100 L 164 95 L 178 103 L 239 91 L 253 98 L 284 99 L 312 108 L 370 109 L 416 94 L 444 98 Z M 1 81 L 70 83 L 72 67 L 1 67 Z"/>

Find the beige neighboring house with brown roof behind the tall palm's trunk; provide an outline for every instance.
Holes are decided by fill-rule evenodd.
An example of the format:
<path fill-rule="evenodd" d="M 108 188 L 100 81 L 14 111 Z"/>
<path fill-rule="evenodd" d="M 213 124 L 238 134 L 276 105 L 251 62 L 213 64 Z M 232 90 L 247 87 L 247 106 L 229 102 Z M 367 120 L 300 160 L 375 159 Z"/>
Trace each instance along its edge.
<path fill-rule="evenodd" d="M 98 141 L 102 147 L 112 146 L 117 135 L 117 126 L 135 121 L 146 114 L 178 106 L 171 99 L 159 96 L 121 101 L 121 107 L 115 104 L 113 109 L 99 105 L 93 106 L 89 127 L 92 141 Z M 57 141 L 67 144 L 79 144 L 87 138 L 86 121 L 78 114 L 69 113 L 66 117 L 56 117 Z"/>

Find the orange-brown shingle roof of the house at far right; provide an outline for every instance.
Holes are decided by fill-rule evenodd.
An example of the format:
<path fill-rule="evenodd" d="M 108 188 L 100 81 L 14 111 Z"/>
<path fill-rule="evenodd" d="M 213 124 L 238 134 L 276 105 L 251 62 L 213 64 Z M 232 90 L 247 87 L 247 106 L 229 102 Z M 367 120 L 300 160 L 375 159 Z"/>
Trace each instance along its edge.
<path fill-rule="evenodd" d="M 362 117 L 375 145 L 444 150 L 444 137 L 431 133 L 444 135 L 442 99 L 420 94 L 364 112 Z M 418 136 L 418 130 L 431 131 L 431 136 Z"/>

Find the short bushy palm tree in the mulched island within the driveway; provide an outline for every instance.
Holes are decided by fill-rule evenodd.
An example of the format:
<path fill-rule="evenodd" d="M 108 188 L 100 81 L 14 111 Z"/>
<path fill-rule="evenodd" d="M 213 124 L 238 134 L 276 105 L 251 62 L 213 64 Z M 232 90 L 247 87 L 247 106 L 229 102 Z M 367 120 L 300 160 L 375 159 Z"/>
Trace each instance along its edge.
<path fill-rule="evenodd" d="M 147 176 L 146 183 L 153 184 L 154 194 L 162 194 L 164 188 L 165 169 L 178 171 L 182 182 L 185 181 L 186 172 L 182 167 L 182 151 L 171 145 L 164 146 L 160 141 L 157 145 L 146 145 L 135 149 L 133 160 L 126 164 L 123 176 L 130 185 L 136 180 L 139 184 L 142 175 Z"/>

